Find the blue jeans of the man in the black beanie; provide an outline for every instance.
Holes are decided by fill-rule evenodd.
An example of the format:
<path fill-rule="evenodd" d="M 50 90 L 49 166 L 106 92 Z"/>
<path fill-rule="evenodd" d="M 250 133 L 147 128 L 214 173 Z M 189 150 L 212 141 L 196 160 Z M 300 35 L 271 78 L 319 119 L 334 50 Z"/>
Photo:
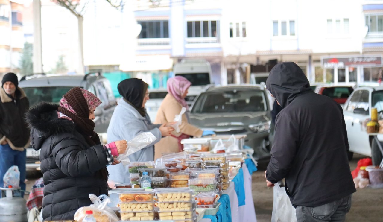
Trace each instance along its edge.
<path fill-rule="evenodd" d="M 11 166 L 18 166 L 20 171 L 20 187 L 25 190 L 26 150 L 23 152 L 12 150 L 8 145 L 0 145 L 0 187 L 4 187 L 3 177 Z M 24 196 L 22 192 L 21 196 Z"/>

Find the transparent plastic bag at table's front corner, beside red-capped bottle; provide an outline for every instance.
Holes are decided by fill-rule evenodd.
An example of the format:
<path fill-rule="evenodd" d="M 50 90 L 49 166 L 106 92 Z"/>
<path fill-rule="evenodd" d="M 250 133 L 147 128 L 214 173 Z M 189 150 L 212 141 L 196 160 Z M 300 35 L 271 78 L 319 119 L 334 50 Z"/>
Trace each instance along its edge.
<path fill-rule="evenodd" d="M 74 214 L 74 219 L 78 222 L 82 222 L 82 219 L 85 217 L 86 211 L 93 211 L 93 217 L 97 222 L 117 222 L 119 221 L 115 212 L 113 212 L 108 203 L 110 203 L 110 198 L 106 195 L 101 195 L 97 197 L 94 194 L 89 194 L 89 199 L 92 201 L 88 207 L 80 207 Z M 102 201 L 101 201 L 102 199 Z"/>

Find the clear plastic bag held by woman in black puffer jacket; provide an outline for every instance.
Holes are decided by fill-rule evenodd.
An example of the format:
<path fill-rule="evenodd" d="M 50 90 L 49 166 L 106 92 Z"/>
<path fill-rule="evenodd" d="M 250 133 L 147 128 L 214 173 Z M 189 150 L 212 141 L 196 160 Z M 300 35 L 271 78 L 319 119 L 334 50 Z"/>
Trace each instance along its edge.
<path fill-rule="evenodd" d="M 128 144 L 128 148 L 126 149 L 124 154 L 121 154 L 117 157 L 118 161 L 121 161 L 123 165 L 128 165 L 130 160 L 128 158 L 129 155 L 145 148 L 147 145 L 154 142 L 157 138 L 151 132 L 142 132 L 130 140 Z"/>

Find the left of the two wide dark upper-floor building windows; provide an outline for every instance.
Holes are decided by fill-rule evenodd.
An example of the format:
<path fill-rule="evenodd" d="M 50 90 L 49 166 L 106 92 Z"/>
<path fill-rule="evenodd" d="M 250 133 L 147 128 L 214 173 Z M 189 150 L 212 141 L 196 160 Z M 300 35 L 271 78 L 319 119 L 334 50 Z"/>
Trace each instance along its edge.
<path fill-rule="evenodd" d="M 139 39 L 169 38 L 168 21 L 137 21 L 141 24 Z"/>

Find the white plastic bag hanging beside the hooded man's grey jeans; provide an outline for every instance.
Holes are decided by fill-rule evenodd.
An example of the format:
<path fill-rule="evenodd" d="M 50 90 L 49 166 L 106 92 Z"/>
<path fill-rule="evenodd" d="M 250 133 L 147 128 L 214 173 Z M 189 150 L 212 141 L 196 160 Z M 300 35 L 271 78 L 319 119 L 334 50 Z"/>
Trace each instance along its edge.
<path fill-rule="evenodd" d="M 272 222 L 296 222 L 295 207 L 291 205 L 290 198 L 287 196 L 285 187 L 280 187 L 280 182 L 275 184 L 273 191 L 273 212 Z"/>

